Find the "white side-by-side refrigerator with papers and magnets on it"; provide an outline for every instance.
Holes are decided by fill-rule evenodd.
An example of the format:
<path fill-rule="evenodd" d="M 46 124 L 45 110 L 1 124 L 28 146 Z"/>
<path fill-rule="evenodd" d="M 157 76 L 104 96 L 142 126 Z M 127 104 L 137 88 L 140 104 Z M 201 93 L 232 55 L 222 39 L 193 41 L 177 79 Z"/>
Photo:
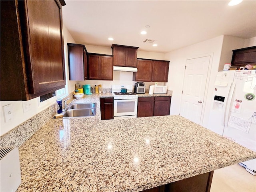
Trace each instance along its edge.
<path fill-rule="evenodd" d="M 208 129 L 256 152 L 256 70 L 218 71 Z M 241 162 L 256 175 L 256 159 Z"/>

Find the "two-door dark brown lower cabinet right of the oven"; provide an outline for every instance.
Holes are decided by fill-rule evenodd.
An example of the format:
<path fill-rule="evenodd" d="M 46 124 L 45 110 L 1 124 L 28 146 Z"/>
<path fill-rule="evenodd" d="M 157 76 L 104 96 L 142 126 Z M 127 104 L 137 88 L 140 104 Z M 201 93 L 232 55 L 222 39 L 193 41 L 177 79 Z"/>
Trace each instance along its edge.
<path fill-rule="evenodd" d="M 138 97 L 137 117 L 170 114 L 171 97 Z"/>

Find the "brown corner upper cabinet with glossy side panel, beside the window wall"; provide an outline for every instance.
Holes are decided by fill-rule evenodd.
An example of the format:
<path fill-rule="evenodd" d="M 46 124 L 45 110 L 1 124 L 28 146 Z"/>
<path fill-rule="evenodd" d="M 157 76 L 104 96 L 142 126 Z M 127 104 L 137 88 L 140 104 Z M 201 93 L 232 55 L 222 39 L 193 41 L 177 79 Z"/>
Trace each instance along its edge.
<path fill-rule="evenodd" d="M 68 43 L 69 80 L 87 80 L 87 51 L 84 45 Z"/>

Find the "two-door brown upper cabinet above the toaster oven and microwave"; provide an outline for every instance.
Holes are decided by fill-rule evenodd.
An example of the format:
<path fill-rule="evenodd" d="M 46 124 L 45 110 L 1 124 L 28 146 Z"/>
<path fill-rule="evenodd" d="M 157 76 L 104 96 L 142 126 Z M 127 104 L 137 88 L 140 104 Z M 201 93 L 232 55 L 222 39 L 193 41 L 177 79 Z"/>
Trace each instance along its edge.
<path fill-rule="evenodd" d="M 167 82 L 169 62 L 163 60 L 138 59 L 138 72 L 133 73 L 134 81 Z"/>

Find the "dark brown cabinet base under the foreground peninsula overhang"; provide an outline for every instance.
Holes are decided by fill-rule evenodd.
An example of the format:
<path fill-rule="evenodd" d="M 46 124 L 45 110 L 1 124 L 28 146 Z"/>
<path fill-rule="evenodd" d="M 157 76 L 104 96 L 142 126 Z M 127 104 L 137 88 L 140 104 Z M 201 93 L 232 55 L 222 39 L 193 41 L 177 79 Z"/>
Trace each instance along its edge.
<path fill-rule="evenodd" d="M 142 192 L 210 192 L 213 171 L 143 190 Z"/>

